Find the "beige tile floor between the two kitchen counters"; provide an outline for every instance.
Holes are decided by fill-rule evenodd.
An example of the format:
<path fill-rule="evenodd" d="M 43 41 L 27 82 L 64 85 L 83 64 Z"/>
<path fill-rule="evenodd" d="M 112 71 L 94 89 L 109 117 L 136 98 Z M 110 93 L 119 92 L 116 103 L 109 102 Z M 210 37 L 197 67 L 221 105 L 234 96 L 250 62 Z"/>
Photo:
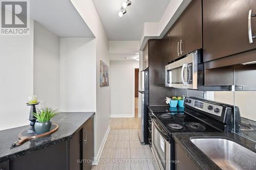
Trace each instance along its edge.
<path fill-rule="evenodd" d="M 92 170 L 155 170 L 148 145 L 140 143 L 137 129 L 111 129 L 101 154 Z"/>

